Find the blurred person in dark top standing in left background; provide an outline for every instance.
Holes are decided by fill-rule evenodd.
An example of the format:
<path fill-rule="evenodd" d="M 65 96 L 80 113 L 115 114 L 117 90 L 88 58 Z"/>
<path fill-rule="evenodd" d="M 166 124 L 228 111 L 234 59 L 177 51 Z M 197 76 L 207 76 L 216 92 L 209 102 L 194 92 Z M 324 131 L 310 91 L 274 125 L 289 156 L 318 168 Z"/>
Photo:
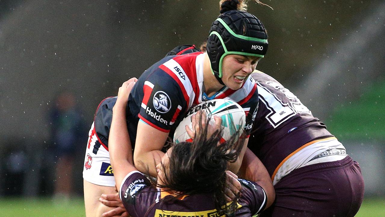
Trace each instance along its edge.
<path fill-rule="evenodd" d="M 77 146 L 84 139 L 84 119 L 70 91 L 60 91 L 50 112 L 51 148 L 55 155 L 54 199 L 68 201 L 72 195 Z"/>

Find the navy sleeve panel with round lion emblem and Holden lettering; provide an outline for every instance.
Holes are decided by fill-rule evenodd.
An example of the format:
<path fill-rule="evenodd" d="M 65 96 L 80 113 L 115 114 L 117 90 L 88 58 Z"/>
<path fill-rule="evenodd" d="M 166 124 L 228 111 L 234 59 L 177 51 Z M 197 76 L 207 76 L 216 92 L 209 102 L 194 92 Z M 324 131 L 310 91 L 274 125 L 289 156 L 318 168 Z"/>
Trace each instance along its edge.
<path fill-rule="evenodd" d="M 179 84 L 159 68 L 165 57 L 139 77 L 129 98 L 130 111 L 154 128 L 169 132 L 176 117 L 186 109 Z"/>

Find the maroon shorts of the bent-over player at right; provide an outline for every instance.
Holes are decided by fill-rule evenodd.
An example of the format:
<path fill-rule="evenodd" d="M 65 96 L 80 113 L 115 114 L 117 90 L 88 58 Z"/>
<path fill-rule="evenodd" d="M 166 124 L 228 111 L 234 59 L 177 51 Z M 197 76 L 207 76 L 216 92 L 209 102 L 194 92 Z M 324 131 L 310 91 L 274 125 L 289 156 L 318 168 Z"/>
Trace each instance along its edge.
<path fill-rule="evenodd" d="M 275 185 L 274 204 L 260 217 L 350 217 L 360 209 L 364 183 L 350 156 L 293 170 Z"/>

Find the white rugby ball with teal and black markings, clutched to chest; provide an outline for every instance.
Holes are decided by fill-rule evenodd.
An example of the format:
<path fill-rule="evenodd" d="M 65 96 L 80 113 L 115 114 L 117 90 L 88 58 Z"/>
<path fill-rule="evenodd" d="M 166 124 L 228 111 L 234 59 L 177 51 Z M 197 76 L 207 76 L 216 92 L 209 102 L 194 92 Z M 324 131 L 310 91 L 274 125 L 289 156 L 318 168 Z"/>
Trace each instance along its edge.
<path fill-rule="evenodd" d="M 206 111 L 206 116 L 210 118 L 210 124 L 215 123 L 214 115 L 221 117 L 223 127 L 222 142 L 229 140 L 234 133 L 244 128 L 246 114 L 238 103 L 227 99 L 212 99 L 191 107 L 187 111 L 186 117 L 179 123 L 175 130 L 174 143 L 192 141 L 186 132 L 185 126 L 187 125 L 192 129 L 191 117 L 202 109 Z"/>

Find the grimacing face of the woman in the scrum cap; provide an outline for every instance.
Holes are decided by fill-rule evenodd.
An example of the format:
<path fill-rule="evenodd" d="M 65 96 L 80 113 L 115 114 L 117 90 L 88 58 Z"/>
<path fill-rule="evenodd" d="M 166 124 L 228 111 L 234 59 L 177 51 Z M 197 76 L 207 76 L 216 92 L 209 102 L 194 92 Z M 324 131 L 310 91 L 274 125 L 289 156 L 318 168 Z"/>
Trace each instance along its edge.
<path fill-rule="evenodd" d="M 230 89 L 238 90 L 254 71 L 259 57 L 230 54 L 223 58 L 222 81 Z"/>

